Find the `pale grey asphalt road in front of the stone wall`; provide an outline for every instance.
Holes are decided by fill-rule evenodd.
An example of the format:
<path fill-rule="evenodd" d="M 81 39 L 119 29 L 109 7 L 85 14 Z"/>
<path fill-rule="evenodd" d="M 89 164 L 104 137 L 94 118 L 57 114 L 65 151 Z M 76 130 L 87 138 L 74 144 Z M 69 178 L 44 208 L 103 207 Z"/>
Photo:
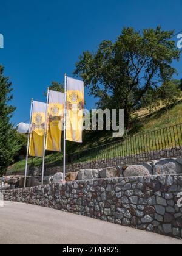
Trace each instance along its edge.
<path fill-rule="evenodd" d="M 182 241 L 50 208 L 0 207 L 1 244 L 182 244 Z"/>

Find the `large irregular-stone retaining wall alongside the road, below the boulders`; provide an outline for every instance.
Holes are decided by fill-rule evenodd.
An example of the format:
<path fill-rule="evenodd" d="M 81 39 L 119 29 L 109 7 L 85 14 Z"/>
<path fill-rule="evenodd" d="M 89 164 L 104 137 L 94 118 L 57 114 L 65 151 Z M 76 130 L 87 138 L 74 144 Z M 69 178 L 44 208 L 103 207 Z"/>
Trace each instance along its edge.
<path fill-rule="evenodd" d="M 3 191 L 4 200 L 50 207 L 182 238 L 182 175 L 78 180 Z"/>

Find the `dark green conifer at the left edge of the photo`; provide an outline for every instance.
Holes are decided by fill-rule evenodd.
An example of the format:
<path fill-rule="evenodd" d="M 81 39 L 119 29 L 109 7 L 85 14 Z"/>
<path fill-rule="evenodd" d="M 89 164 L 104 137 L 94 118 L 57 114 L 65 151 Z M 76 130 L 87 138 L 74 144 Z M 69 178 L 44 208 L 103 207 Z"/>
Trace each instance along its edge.
<path fill-rule="evenodd" d="M 16 129 L 10 121 L 15 111 L 15 107 L 9 105 L 12 100 L 12 84 L 3 72 L 4 68 L 0 65 L 0 174 L 13 162 L 21 148 Z"/>

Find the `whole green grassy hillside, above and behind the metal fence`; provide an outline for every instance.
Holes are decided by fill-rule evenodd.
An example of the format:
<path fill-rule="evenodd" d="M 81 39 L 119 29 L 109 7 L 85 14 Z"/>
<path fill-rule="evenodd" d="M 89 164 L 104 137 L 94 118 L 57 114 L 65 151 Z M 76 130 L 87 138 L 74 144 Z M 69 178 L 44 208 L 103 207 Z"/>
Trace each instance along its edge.
<path fill-rule="evenodd" d="M 68 143 L 69 152 L 77 152 L 77 158 L 70 159 L 70 163 L 87 162 L 106 159 L 108 157 L 120 157 L 124 155 L 140 154 L 141 152 L 155 151 L 165 148 L 175 148 L 182 145 L 181 126 L 182 123 L 182 102 L 157 110 L 145 118 L 138 118 L 133 126 L 133 137 L 127 138 L 120 143 L 110 146 L 101 146 L 96 151 L 92 147 L 99 144 L 112 142 L 110 133 L 92 132 L 86 133 L 83 144 Z M 160 130 L 160 131 L 159 131 Z M 155 132 L 153 132 L 155 131 Z M 152 132 L 152 133 L 149 133 Z M 87 155 L 81 154 L 84 149 L 89 149 Z M 58 165 L 61 163 L 62 154 L 53 153 L 46 155 L 45 164 Z M 42 165 L 42 158 L 29 158 L 29 165 Z M 19 161 L 8 168 L 9 171 L 21 171 L 25 169 L 25 160 Z"/>

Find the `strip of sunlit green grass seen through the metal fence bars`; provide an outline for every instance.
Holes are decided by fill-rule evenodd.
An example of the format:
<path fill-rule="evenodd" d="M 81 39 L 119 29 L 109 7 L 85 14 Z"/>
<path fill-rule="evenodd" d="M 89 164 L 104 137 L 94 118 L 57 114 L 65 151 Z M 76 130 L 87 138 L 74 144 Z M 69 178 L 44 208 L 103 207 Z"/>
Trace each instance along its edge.
<path fill-rule="evenodd" d="M 90 149 L 86 154 L 77 154 L 78 159 L 74 162 L 89 162 L 90 160 L 104 160 L 122 156 L 141 155 L 144 152 L 159 151 L 162 149 L 172 149 L 182 145 L 182 125 L 171 126 L 165 129 L 155 130 L 128 137 L 126 140 L 111 144 L 110 146 L 101 146 L 94 152 Z M 163 155 L 164 157 L 164 155 Z M 131 159 L 130 159 L 131 160 Z"/>

